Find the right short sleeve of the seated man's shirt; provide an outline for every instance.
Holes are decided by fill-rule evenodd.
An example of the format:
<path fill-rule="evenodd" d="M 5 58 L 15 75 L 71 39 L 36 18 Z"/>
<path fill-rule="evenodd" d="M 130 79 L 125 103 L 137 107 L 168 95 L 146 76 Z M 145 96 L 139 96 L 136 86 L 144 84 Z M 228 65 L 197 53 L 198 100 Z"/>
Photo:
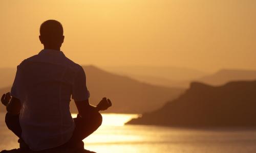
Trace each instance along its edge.
<path fill-rule="evenodd" d="M 87 100 L 90 97 L 90 92 L 87 89 L 86 85 L 86 73 L 80 67 L 80 69 L 76 72 L 74 83 L 72 87 L 72 98 L 75 101 L 83 101 Z"/>

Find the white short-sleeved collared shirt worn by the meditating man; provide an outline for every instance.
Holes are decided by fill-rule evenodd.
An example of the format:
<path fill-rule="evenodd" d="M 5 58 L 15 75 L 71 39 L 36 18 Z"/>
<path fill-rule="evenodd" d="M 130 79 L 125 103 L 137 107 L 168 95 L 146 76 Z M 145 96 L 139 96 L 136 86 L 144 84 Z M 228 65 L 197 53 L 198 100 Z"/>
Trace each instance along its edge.
<path fill-rule="evenodd" d="M 17 66 L 11 96 L 20 99 L 22 138 L 34 151 L 60 146 L 74 131 L 69 103 L 90 97 L 82 67 L 61 51 L 43 49 Z"/>

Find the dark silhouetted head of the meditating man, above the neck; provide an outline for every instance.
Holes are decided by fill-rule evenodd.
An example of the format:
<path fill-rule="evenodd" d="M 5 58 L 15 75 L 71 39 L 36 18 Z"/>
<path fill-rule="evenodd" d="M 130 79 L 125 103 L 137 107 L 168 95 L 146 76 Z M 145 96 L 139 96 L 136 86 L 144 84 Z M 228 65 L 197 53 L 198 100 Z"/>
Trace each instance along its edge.
<path fill-rule="evenodd" d="M 63 28 L 57 20 L 47 20 L 40 26 L 40 41 L 44 45 L 61 46 L 63 42 Z"/>

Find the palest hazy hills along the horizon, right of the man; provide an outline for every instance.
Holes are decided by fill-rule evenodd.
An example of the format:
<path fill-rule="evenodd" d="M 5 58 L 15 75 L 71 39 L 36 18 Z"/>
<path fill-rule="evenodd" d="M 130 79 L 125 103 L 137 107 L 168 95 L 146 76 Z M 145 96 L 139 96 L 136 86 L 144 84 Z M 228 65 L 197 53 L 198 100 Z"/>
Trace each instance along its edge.
<path fill-rule="evenodd" d="M 191 82 L 202 82 L 219 86 L 230 81 L 256 80 L 256 70 L 222 69 L 213 74 L 168 66 L 112 66 L 105 69 L 147 84 L 189 88 Z"/>

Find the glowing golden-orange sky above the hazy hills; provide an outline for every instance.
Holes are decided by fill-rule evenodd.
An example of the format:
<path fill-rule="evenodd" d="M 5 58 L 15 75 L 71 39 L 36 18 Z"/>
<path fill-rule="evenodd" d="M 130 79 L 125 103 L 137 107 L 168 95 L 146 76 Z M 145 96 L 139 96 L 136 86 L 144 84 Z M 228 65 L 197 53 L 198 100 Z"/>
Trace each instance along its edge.
<path fill-rule="evenodd" d="M 37 54 L 56 19 L 79 64 L 256 69 L 254 0 L 1 0 L 0 19 L 0 67 Z"/>

